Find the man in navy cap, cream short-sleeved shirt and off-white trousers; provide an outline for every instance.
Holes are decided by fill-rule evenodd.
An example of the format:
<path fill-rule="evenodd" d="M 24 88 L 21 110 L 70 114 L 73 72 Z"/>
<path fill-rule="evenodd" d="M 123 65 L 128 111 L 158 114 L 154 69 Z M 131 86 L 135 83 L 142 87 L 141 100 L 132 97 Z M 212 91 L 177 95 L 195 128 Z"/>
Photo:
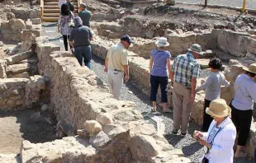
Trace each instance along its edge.
<path fill-rule="evenodd" d="M 114 44 L 107 52 L 105 60 L 105 72 L 107 72 L 107 79 L 111 86 L 111 94 L 116 100 L 119 100 L 121 95 L 121 86 L 125 75 L 125 81 L 129 80 L 128 67 L 128 52 L 130 44 L 133 41 L 129 35 L 123 35 L 118 44 Z"/>

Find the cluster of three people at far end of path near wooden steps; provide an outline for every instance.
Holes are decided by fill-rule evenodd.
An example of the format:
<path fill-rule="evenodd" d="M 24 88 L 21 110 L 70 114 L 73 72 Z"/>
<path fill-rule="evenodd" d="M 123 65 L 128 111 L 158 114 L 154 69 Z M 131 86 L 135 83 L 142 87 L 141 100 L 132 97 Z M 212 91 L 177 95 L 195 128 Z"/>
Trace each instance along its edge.
<path fill-rule="evenodd" d="M 81 3 L 79 5 L 78 16 L 74 16 L 72 2 L 60 1 L 60 14 L 58 21 L 58 32 L 63 35 L 64 48 L 73 52 L 78 63 L 91 69 L 92 59 L 92 30 L 90 30 L 90 20 L 92 12 L 87 10 L 87 5 Z M 73 24 L 70 21 L 73 20 Z"/>

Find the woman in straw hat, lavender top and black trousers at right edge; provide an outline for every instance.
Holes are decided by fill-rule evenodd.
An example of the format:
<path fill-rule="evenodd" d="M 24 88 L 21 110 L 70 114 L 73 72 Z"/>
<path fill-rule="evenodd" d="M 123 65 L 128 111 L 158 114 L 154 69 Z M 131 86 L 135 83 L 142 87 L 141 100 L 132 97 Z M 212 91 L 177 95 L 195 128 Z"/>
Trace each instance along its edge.
<path fill-rule="evenodd" d="M 249 131 L 253 119 L 254 102 L 256 101 L 256 63 L 249 65 L 249 68 L 243 68 L 245 73 L 235 79 L 235 95 L 230 103 L 231 119 L 235 124 L 238 133 L 237 148 L 235 158 L 245 157 L 243 148 L 249 137 Z"/>

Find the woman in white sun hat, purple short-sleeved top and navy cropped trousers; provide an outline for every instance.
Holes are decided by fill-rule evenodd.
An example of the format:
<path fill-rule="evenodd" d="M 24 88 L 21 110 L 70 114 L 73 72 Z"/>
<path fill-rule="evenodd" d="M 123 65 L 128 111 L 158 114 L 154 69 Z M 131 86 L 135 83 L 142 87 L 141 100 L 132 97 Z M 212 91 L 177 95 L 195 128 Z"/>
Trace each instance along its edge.
<path fill-rule="evenodd" d="M 154 49 L 150 55 L 149 72 L 150 72 L 150 100 L 153 103 L 152 111 L 156 111 L 156 99 L 159 90 L 161 88 L 161 102 L 164 103 L 164 112 L 171 112 L 168 109 L 168 91 L 166 87 L 168 85 L 168 78 L 171 73 L 171 54 L 165 49 L 168 46 L 167 39 L 165 37 L 159 38 L 155 42 L 157 49 Z"/>

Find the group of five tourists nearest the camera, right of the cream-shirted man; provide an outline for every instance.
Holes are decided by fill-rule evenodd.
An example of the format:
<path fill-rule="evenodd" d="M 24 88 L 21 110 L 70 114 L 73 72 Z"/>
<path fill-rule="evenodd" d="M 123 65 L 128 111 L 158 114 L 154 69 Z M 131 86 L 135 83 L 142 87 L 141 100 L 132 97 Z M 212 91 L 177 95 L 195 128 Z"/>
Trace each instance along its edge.
<path fill-rule="evenodd" d="M 164 103 L 163 112 L 170 112 L 167 106 L 168 78 L 173 86 L 173 134 L 187 134 L 192 103 L 198 91 L 205 90 L 205 104 L 202 131 L 195 131 L 193 137 L 204 146 L 205 155 L 200 162 L 233 162 L 236 135 L 237 146 L 235 158 L 245 157 L 244 147 L 249 137 L 249 130 L 253 119 L 254 101 L 256 101 L 256 63 L 244 68 L 234 85 L 235 95 L 230 102 L 220 99 L 220 87 L 230 86 L 225 75 L 220 71 L 220 58 L 211 58 L 209 68 L 211 75 L 199 87 L 197 78 L 200 75 L 201 46 L 192 44 L 187 54 L 178 55 L 173 64 L 170 63 L 171 54 L 165 49 L 168 46 L 166 38 L 156 41 L 157 48 L 151 52 L 149 61 L 150 72 L 150 100 L 153 102 L 152 111 L 156 111 L 156 99 L 160 85 L 161 102 Z"/>

